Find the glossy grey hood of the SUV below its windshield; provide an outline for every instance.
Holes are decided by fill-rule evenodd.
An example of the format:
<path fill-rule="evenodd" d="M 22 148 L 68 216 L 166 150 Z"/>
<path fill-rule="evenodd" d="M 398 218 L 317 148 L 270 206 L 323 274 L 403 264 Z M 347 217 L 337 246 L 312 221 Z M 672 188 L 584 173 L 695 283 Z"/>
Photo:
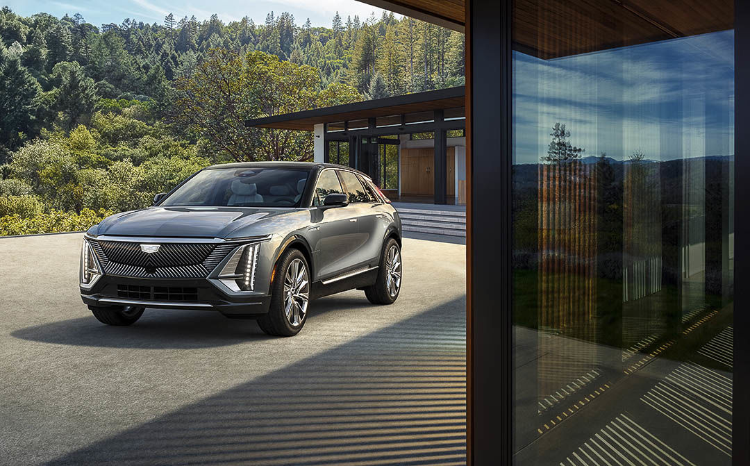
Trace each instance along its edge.
<path fill-rule="evenodd" d="M 107 217 L 95 234 L 226 238 L 241 227 L 299 209 L 254 207 L 149 207 Z M 273 232 L 263 232 L 268 234 Z"/>

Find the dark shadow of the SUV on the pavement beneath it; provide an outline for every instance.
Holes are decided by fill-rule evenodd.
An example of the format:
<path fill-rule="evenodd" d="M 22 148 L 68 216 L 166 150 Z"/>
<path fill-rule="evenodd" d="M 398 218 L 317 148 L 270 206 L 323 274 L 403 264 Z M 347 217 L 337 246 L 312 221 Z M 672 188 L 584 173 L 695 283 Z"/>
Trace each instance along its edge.
<path fill-rule="evenodd" d="M 370 303 L 364 296 L 330 297 L 314 302 L 308 319 L 367 306 Z M 42 343 L 138 349 L 195 349 L 273 338 L 264 334 L 255 320 L 228 319 L 211 311 L 170 309 L 146 309 L 132 326 L 107 326 L 89 315 L 18 329 L 10 335 Z"/>

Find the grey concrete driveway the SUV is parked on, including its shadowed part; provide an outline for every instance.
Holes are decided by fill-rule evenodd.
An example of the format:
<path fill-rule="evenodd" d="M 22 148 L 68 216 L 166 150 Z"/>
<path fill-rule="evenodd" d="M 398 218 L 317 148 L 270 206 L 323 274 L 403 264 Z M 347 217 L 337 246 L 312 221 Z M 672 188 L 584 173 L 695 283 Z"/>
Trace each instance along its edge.
<path fill-rule="evenodd" d="M 391 306 L 294 338 L 206 311 L 104 326 L 81 234 L 0 239 L 1 464 L 464 464 L 465 247 L 404 239 Z"/>

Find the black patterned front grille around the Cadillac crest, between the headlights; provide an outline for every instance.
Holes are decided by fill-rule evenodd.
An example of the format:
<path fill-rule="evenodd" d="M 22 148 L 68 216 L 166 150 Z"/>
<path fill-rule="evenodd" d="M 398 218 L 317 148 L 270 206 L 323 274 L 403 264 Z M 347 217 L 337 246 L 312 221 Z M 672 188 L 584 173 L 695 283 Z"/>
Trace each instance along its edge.
<path fill-rule="evenodd" d="M 205 278 L 236 244 L 89 240 L 106 275 L 136 278 Z M 141 244 L 158 244 L 153 253 Z"/>

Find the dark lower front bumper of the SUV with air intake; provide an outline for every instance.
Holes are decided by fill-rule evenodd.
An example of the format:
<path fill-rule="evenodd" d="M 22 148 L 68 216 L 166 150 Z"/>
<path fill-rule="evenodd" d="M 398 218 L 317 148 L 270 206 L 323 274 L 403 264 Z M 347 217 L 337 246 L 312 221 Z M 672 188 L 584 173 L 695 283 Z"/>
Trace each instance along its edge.
<path fill-rule="evenodd" d="M 90 290 L 80 288 L 80 292 L 81 299 L 86 305 L 133 305 L 145 308 L 219 311 L 226 317 L 248 319 L 268 313 L 271 302 L 271 296 L 265 293 L 223 293 L 208 279 L 125 278 L 102 275 Z"/>

